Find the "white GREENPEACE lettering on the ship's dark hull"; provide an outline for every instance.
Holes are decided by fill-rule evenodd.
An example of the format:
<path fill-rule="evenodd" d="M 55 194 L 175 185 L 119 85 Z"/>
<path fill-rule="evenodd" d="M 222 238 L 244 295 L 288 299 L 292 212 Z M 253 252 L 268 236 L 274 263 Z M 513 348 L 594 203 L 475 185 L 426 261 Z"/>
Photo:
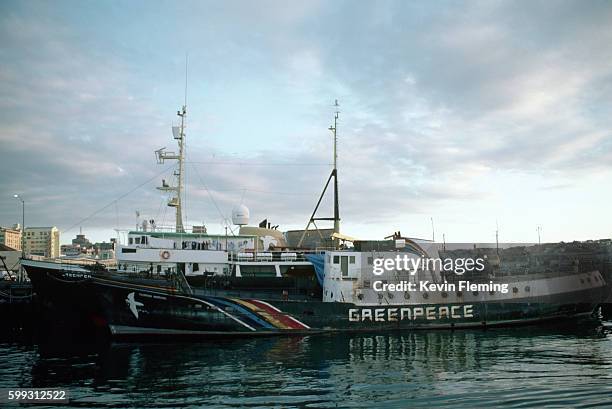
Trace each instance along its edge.
<path fill-rule="evenodd" d="M 397 307 L 397 308 L 350 308 L 351 322 L 395 322 L 420 320 L 457 320 L 474 318 L 472 304 L 441 305 L 429 307 Z"/>

